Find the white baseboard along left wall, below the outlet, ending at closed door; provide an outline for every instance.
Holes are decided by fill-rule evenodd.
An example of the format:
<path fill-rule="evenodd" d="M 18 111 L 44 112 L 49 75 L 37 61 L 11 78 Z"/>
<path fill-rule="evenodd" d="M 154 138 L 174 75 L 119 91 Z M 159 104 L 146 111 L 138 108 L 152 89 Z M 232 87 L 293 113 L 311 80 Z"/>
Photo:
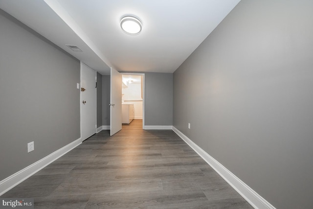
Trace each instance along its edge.
<path fill-rule="evenodd" d="M 48 164 L 52 163 L 53 161 L 57 160 L 58 158 L 65 155 L 70 150 L 74 149 L 78 145 L 82 143 L 82 139 L 79 138 L 66 146 L 58 149 L 57 151 L 51 153 L 50 155 L 46 156 L 45 158 L 25 167 L 24 169 L 16 172 L 15 174 L 7 177 L 6 179 L 0 181 L 0 196 L 17 186 L 18 184 L 22 183 L 24 180 L 32 176 L 33 174 L 37 173 L 41 169 L 43 169 Z"/>

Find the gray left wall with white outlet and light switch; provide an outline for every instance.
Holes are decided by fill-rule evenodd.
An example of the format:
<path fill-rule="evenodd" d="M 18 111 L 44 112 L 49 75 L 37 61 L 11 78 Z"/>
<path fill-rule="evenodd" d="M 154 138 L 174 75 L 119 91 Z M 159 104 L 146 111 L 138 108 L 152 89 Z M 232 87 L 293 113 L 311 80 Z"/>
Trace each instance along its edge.
<path fill-rule="evenodd" d="M 80 138 L 80 62 L 2 10 L 0 25 L 3 180 Z"/>

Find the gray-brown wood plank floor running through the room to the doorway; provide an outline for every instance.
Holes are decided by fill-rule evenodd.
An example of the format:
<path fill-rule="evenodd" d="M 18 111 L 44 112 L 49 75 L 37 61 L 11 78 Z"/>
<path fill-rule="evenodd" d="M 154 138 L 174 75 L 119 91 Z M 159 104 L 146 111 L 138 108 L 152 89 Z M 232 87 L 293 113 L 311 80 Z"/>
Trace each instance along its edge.
<path fill-rule="evenodd" d="M 101 131 L 1 196 L 38 209 L 252 209 L 171 130 Z"/>

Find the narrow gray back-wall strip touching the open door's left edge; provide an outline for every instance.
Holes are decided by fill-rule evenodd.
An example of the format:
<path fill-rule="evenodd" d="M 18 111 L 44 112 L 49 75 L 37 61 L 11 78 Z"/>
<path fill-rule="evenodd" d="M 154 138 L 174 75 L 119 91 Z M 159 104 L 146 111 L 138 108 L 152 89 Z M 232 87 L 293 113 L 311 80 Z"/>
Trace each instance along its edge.
<path fill-rule="evenodd" d="M 110 75 L 102 75 L 102 125 L 110 125 L 110 78 Z"/>

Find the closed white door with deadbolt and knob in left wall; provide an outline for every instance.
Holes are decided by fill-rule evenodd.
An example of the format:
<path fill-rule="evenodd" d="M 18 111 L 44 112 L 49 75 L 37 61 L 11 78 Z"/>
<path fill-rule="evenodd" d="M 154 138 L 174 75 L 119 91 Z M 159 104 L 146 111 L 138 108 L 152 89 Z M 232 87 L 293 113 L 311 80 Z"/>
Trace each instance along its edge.
<path fill-rule="evenodd" d="M 81 62 L 81 136 L 96 133 L 96 71 Z"/>

